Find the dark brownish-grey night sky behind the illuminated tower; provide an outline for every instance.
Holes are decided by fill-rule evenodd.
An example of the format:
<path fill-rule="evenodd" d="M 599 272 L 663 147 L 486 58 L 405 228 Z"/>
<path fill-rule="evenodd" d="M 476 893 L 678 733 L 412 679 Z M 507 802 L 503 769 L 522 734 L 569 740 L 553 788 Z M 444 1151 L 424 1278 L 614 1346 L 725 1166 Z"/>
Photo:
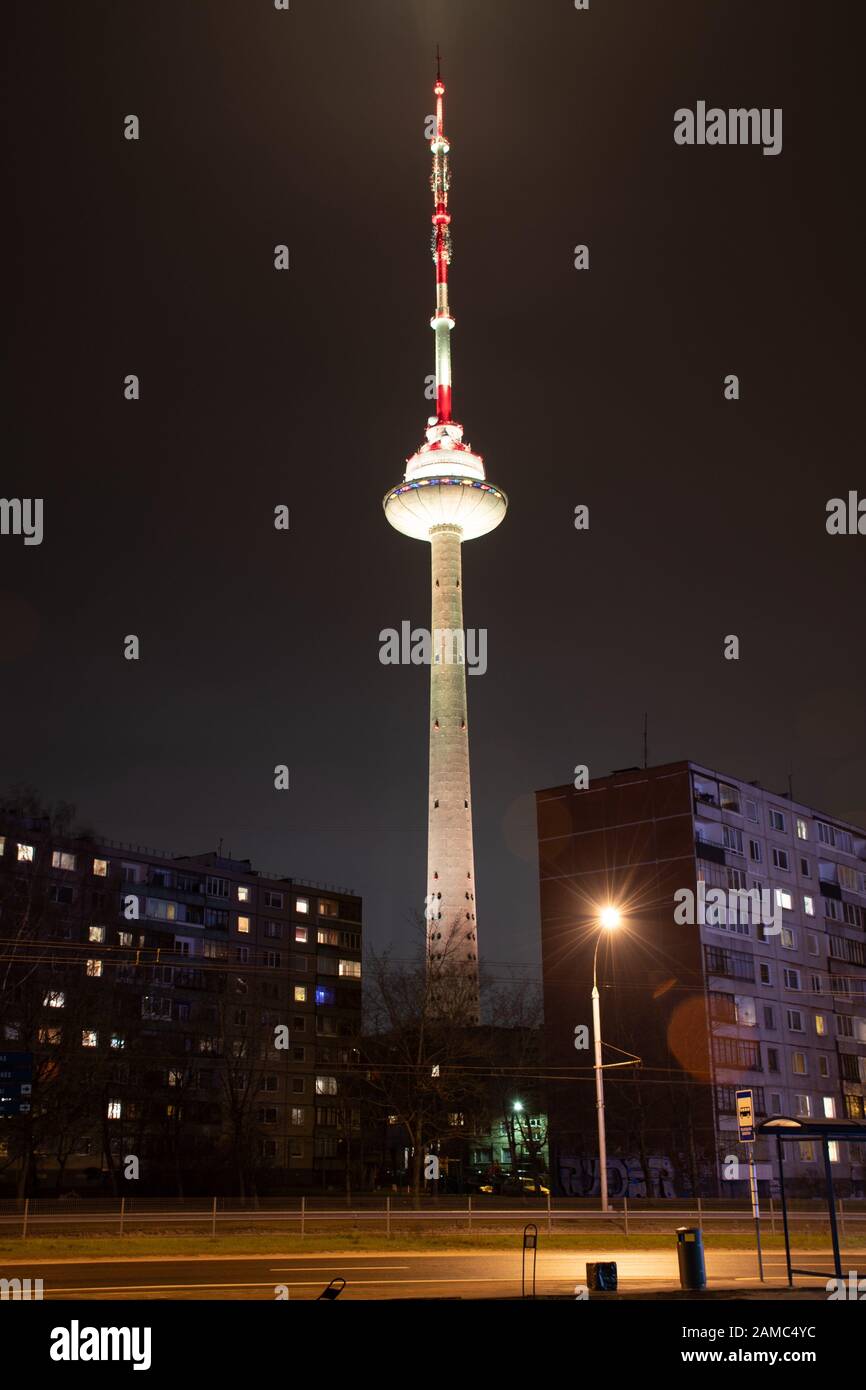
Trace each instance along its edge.
<path fill-rule="evenodd" d="M 3 783 L 353 887 L 410 954 L 428 670 L 378 634 L 428 626 L 430 550 L 381 500 L 431 409 L 438 42 L 455 414 L 510 499 L 463 555 L 482 960 L 537 959 L 534 790 L 639 763 L 645 710 L 651 763 L 865 823 L 856 8 L 7 6 L 0 491 L 44 541 L 0 538 Z M 676 146 L 698 100 L 783 107 L 781 154 Z"/>

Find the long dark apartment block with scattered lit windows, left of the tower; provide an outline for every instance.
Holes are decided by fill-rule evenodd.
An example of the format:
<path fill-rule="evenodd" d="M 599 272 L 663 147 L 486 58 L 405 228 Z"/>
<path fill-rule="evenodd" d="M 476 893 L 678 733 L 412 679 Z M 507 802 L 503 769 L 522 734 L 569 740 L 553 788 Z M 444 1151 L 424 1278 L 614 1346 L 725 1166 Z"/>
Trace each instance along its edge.
<path fill-rule="evenodd" d="M 33 1054 L 7 1168 L 117 1186 L 133 1155 L 142 1193 L 339 1184 L 361 930 L 348 890 L 6 816 L 0 1051 Z"/>

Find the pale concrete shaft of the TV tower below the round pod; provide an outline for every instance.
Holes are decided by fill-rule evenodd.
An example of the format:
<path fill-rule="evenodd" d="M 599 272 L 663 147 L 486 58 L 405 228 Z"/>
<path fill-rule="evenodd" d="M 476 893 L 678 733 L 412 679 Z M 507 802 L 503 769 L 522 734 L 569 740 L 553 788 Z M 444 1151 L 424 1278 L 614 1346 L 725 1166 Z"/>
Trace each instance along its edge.
<path fill-rule="evenodd" d="M 427 833 L 428 959 L 445 979 L 459 967 L 467 1015 L 478 1011 L 475 860 L 468 770 L 460 528 L 430 537 L 430 806 Z"/>

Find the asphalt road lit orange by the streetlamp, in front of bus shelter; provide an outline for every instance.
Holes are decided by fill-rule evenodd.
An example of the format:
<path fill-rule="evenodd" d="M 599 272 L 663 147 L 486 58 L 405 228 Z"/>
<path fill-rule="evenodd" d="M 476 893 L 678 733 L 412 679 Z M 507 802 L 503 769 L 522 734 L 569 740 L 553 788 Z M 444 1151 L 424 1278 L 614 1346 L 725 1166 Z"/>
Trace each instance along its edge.
<path fill-rule="evenodd" d="M 851 1254 L 853 1258 L 855 1252 Z M 585 1282 L 587 1261 L 594 1258 L 598 1255 L 591 1248 L 539 1251 L 538 1293 L 574 1295 L 575 1286 Z M 624 1291 L 680 1287 L 676 1250 L 609 1251 L 603 1258 L 616 1259 Z M 828 1268 L 826 1254 L 799 1251 L 795 1262 L 810 1269 Z M 848 1269 L 848 1265 L 844 1268 Z M 863 1268 L 863 1252 L 859 1268 Z M 770 1286 L 787 1287 L 784 1270 L 783 1254 L 773 1251 L 765 1255 Z M 363 1255 L 3 1261 L 3 1276 L 40 1277 L 46 1300 L 274 1300 L 279 1286 L 288 1289 L 291 1300 L 303 1300 L 317 1298 L 335 1276 L 346 1280 L 343 1300 L 500 1298 L 520 1295 L 520 1252 L 405 1254 L 385 1250 Z M 713 1251 L 708 1257 L 708 1279 L 710 1289 L 748 1291 L 758 1286 L 755 1255 L 749 1251 Z M 796 1283 L 826 1298 L 822 1280 L 799 1279 Z"/>

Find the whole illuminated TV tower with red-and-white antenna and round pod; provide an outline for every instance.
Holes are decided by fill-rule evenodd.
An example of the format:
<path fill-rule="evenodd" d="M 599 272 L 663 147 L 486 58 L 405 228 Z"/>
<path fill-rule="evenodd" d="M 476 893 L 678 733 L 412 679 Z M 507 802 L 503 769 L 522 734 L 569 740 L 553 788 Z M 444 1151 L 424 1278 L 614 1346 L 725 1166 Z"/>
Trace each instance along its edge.
<path fill-rule="evenodd" d="M 466 641 L 460 546 L 487 535 L 505 517 L 507 498 L 485 481 L 484 460 L 463 441 L 452 418 L 450 334 L 448 300 L 450 213 L 448 210 L 449 142 L 443 128 L 445 85 L 436 72 L 431 189 L 432 257 L 436 267 L 435 334 L 436 413 L 427 421 L 427 442 L 406 461 L 405 480 L 384 500 L 392 527 L 431 550 L 430 790 L 427 830 L 427 962 L 443 984 L 461 981 L 459 995 L 468 1022 L 478 1023 L 478 923 L 473 802 L 468 771 Z"/>

